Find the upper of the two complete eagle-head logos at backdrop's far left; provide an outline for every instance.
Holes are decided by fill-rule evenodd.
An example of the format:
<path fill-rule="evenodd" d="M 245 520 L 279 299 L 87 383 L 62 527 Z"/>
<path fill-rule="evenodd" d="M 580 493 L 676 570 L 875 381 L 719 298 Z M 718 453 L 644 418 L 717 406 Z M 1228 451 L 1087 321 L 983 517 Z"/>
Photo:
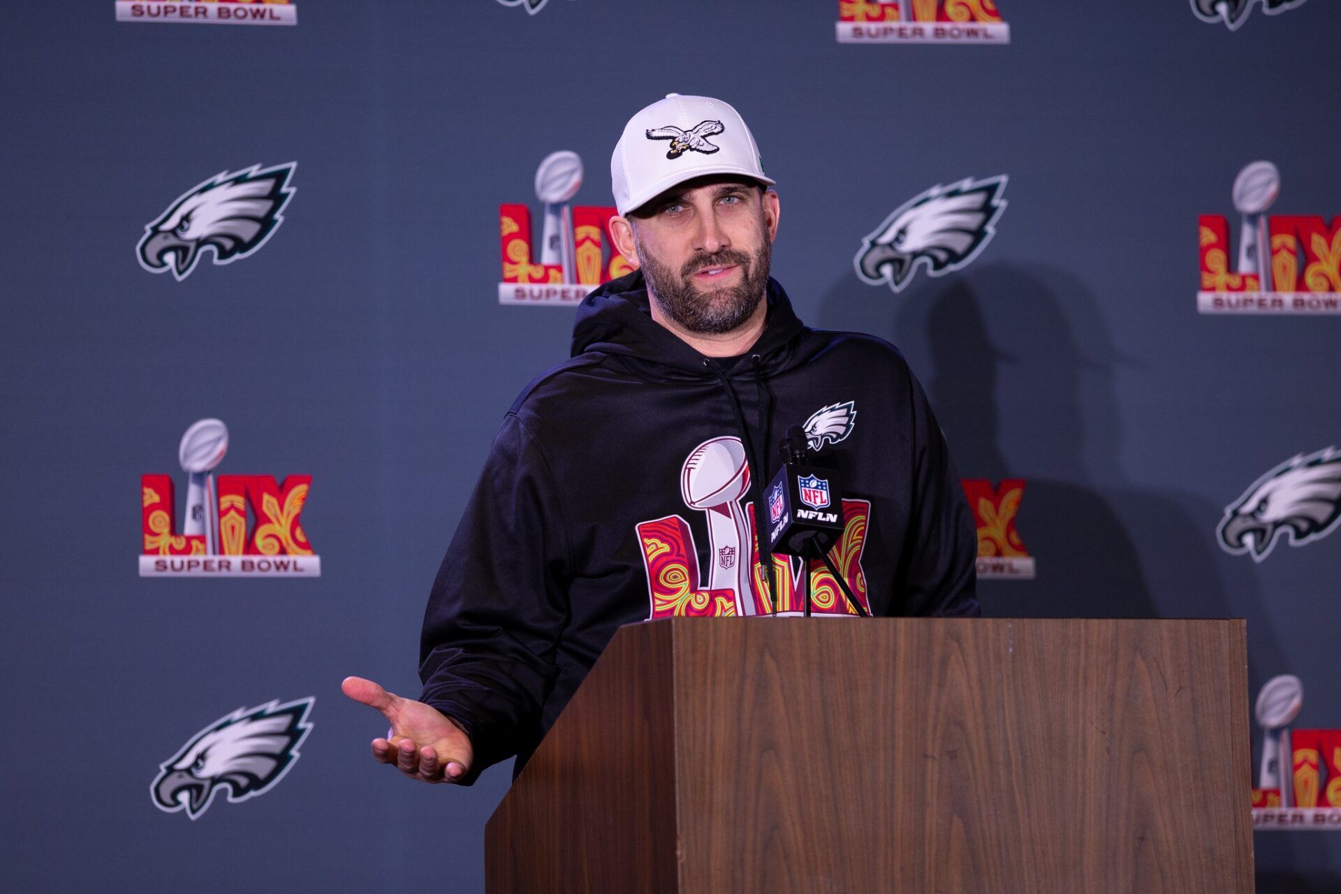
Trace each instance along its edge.
<path fill-rule="evenodd" d="M 135 247 L 139 265 L 150 273 L 172 275 L 180 283 L 209 249 L 216 264 L 247 257 L 270 240 L 295 189 L 288 185 L 298 162 L 261 170 L 220 172 L 192 186 L 145 227 Z"/>

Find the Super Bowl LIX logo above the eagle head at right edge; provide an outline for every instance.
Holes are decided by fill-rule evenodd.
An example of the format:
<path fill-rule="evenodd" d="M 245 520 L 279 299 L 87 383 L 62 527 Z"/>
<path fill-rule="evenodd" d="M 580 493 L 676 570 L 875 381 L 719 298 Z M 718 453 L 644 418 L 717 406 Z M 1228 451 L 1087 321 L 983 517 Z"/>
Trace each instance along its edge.
<path fill-rule="evenodd" d="M 1202 314 L 1341 314 L 1341 216 L 1267 214 L 1281 172 L 1255 161 L 1234 180 L 1238 268 L 1230 267 L 1230 222 L 1202 214 Z"/>

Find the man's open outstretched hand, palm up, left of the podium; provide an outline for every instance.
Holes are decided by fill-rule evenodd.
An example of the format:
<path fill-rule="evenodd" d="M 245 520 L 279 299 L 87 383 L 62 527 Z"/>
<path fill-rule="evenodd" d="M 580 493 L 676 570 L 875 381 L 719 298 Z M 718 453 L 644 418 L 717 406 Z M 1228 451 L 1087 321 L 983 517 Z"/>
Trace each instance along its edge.
<path fill-rule="evenodd" d="M 424 783 L 455 783 L 471 771 L 475 749 L 469 737 L 436 708 L 401 698 L 362 677 L 346 677 L 341 689 L 377 708 L 392 725 L 388 739 L 373 740 L 373 757 L 380 763 L 394 764 Z"/>

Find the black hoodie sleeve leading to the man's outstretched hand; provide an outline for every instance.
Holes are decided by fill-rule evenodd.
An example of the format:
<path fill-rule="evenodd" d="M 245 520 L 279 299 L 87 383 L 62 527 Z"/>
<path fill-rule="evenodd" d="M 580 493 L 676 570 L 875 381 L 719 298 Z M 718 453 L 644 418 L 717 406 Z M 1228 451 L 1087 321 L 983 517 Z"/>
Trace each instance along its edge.
<path fill-rule="evenodd" d="M 569 544 L 548 465 L 508 413 L 433 582 L 420 701 L 456 720 L 481 769 L 540 739 L 567 625 Z"/>

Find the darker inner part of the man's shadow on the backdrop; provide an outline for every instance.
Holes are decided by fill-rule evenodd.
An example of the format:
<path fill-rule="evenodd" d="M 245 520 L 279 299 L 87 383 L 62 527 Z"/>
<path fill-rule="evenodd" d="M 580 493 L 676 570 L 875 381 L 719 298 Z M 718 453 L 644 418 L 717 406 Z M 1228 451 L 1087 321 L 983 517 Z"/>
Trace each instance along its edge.
<path fill-rule="evenodd" d="M 976 272 L 972 280 L 937 283 L 925 303 L 904 303 L 894 335 L 907 340 L 925 332 L 927 390 L 960 474 L 1026 478 L 1016 525 L 1038 562 L 1038 579 L 984 582 L 984 610 L 1157 617 L 1140 554 L 1113 505 L 1114 488 L 1102 488 L 1094 470 L 1108 465 L 1116 476 L 1116 458 L 1105 454 L 1118 436 L 1112 367 L 1121 358 L 1106 334 L 1081 348 L 1066 312 L 1078 283 L 1016 267 Z M 1010 314 L 995 315 L 1004 326 L 988 331 L 979 290 L 988 300 L 1008 298 Z M 1071 302 L 1065 310 L 1063 294 Z"/>

